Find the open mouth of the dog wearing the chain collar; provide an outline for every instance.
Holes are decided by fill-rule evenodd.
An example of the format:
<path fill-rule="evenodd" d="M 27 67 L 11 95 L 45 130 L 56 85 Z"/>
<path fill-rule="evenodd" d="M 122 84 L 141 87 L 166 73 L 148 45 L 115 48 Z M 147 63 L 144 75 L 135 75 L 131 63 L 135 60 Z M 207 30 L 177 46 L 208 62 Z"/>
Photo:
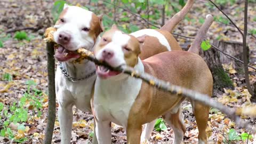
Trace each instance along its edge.
<path fill-rule="evenodd" d="M 67 61 L 72 58 L 78 59 L 80 55 L 76 51 L 69 51 L 65 49 L 63 46 L 58 46 L 54 55 L 55 59 L 58 61 Z"/>

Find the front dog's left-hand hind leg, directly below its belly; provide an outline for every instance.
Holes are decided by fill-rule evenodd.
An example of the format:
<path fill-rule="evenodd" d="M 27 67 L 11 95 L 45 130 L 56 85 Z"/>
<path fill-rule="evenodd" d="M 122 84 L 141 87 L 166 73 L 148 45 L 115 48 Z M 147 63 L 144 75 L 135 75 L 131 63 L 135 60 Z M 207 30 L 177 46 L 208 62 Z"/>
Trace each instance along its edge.
<path fill-rule="evenodd" d="M 183 141 L 186 128 L 184 125 L 184 115 L 181 108 L 178 109 L 177 113 L 169 112 L 163 115 L 165 122 L 172 127 L 174 132 L 173 144 L 180 144 Z"/>

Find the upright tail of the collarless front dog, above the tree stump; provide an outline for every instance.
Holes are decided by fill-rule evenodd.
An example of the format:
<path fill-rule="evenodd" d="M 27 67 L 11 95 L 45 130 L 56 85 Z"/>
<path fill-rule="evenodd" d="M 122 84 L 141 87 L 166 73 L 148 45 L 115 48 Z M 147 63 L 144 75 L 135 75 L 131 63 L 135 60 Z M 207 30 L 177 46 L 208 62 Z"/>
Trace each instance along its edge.
<path fill-rule="evenodd" d="M 188 52 L 199 54 L 199 50 L 201 49 L 201 43 L 205 38 L 207 30 L 212 25 L 212 22 L 213 22 L 212 15 L 211 14 L 206 15 L 206 20 L 203 26 L 201 26 L 201 28 L 198 30 L 198 33 L 196 34 L 196 38 L 194 42 L 191 44 L 190 48 L 188 49 Z"/>

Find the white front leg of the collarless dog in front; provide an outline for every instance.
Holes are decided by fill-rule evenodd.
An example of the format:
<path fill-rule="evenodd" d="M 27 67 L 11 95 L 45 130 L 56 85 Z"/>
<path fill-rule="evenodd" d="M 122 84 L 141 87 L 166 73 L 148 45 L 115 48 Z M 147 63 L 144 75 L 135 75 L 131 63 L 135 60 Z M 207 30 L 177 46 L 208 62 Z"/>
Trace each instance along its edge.
<path fill-rule="evenodd" d="M 95 121 L 96 136 L 99 144 L 111 144 L 111 122 Z"/>

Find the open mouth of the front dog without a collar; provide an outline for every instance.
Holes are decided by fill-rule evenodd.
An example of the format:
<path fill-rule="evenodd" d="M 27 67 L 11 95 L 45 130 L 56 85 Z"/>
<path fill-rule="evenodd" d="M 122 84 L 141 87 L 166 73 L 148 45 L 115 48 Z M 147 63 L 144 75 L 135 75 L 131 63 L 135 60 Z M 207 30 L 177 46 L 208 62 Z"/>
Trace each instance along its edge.
<path fill-rule="evenodd" d="M 104 66 L 96 66 L 96 67 L 97 67 L 96 73 L 100 78 L 108 78 L 111 76 L 116 76 L 121 73 L 118 71 L 112 71 Z"/>

